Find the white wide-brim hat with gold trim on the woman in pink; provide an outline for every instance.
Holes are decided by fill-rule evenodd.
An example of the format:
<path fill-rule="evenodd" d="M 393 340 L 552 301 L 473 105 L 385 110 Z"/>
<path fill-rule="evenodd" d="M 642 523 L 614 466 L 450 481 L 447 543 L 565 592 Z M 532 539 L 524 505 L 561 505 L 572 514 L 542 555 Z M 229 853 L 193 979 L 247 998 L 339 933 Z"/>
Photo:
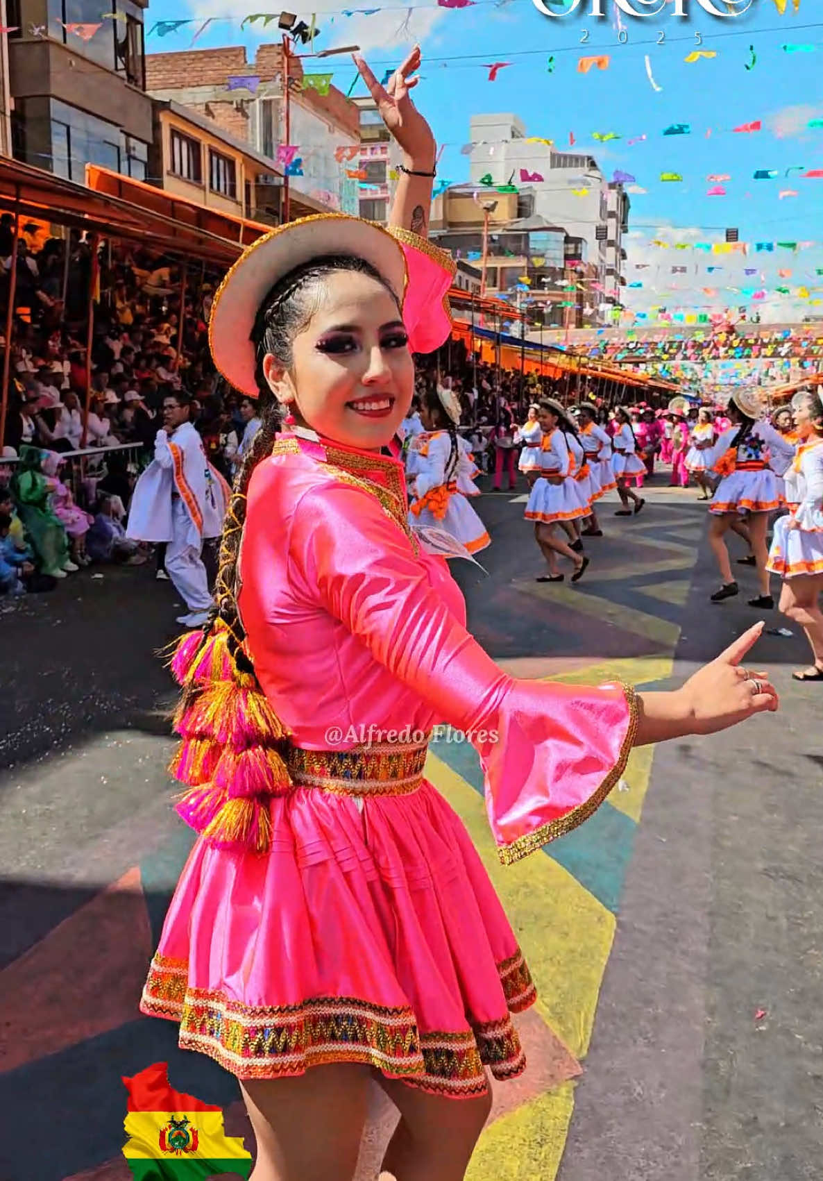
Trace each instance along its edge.
<path fill-rule="evenodd" d="M 406 260 L 388 230 L 347 214 L 316 214 L 279 226 L 253 242 L 217 288 L 209 319 L 214 363 L 235 390 L 256 398 L 255 346 L 252 328 L 268 293 L 312 259 L 352 255 L 370 262 L 403 304 Z"/>

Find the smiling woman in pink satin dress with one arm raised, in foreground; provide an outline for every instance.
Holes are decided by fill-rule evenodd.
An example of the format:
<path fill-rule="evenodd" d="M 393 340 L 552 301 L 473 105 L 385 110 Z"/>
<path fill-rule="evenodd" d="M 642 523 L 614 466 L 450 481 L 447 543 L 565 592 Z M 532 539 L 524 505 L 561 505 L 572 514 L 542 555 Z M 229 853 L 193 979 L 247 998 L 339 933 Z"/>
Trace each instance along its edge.
<path fill-rule="evenodd" d="M 436 149 L 409 97 L 418 64 L 414 50 L 387 90 L 360 72 L 404 152 L 393 217 L 424 228 Z M 411 400 L 412 351 L 449 332 L 451 268 L 396 233 L 333 214 L 275 229 L 231 268 L 209 325 L 226 379 L 267 405 L 213 618 L 172 661 L 178 808 L 200 837 L 142 1010 L 240 1079 L 255 1181 L 351 1181 L 372 1081 L 400 1111 L 383 1169 L 461 1181 L 486 1066 L 524 1068 L 510 1012 L 534 985 L 465 829 L 423 778 L 435 720 L 471 733 L 511 862 L 588 816 L 634 745 L 778 707 L 739 667 L 758 628 L 667 693 L 514 680 L 471 638 L 445 562 L 409 530 L 403 469 L 380 454 Z M 293 419 L 281 433 L 272 393 Z"/>

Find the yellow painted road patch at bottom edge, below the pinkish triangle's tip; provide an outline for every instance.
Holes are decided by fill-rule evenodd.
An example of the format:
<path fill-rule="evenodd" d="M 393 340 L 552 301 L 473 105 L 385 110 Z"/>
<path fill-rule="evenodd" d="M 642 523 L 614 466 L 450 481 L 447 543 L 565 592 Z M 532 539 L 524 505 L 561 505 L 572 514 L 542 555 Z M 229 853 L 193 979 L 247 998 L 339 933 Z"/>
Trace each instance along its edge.
<path fill-rule="evenodd" d="M 466 1181 L 554 1181 L 574 1110 L 574 1083 L 560 1087 L 483 1133 Z"/>

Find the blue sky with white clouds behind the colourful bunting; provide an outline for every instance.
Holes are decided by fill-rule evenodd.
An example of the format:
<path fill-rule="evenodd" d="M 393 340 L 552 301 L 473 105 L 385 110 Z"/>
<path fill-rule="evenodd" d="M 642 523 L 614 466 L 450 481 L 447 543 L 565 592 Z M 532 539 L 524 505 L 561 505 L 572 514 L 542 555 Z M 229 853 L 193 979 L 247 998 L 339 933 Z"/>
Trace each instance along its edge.
<path fill-rule="evenodd" d="M 461 155 L 461 145 L 469 139 L 470 115 L 497 111 L 520 115 L 528 135 L 551 138 L 561 149 L 569 146 L 571 132 L 575 150 L 590 150 L 608 176 L 621 169 L 636 177 L 647 194 L 632 196 L 633 236 L 626 243 L 627 278 L 644 282 L 642 289 L 627 292 L 635 307 L 652 302 L 745 302 L 733 293 L 717 299 L 701 294 L 704 286 L 726 286 L 723 280 L 739 287 L 780 283 L 791 287 L 792 295 L 803 283 L 823 287 L 823 276 L 815 275 L 816 268 L 823 267 L 823 249 L 730 260 L 648 246 L 653 239 L 672 243 L 718 241 L 726 226 L 738 227 L 742 241 L 823 242 L 823 180 L 804 180 L 799 172 L 786 177 L 788 169 L 801 165 L 823 169 L 823 130 L 808 129 L 811 119 L 823 118 L 823 5 L 818 0 L 801 0 L 797 13 L 789 0 L 783 15 L 776 0 L 752 0 L 745 15 L 725 20 L 707 15 L 698 0 L 691 0 L 693 11 L 687 20 L 674 18 L 671 6 L 666 15 L 655 19 L 623 15 L 627 44 L 619 43 L 613 19 L 597 21 L 580 12 L 550 19 L 531 0 L 502 5 L 485 0 L 459 9 L 424 0 L 425 6 L 411 11 L 401 0 L 392 0 L 391 7 L 373 15 L 352 18 L 341 14 L 347 2 L 372 6 L 378 0 L 315 0 L 312 9 L 298 6 L 293 11 L 307 21 L 312 11 L 316 12 L 321 30 L 318 48 L 358 43 L 378 76 L 400 61 L 410 40 L 420 41 L 424 65 L 417 102 L 438 143 L 445 144 L 440 177 L 453 183 L 468 180 L 468 159 Z M 559 0 L 554 4 L 562 7 Z M 589 0 L 582 0 L 580 8 L 589 6 Z M 612 8 L 610 0 L 606 7 Z M 233 20 L 215 19 L 197 45 L 246 44 L 252 57 L 260 40 L 276 38 L 276 24 L 269 26 L 266 37 L 262 30 L 257 34 L 260 26 L 247 26 L 241 32 L 242 18 L 259 8 L 248 0 L 162 0 L 151 4 L 146 27 L 157 20 L 230 17 Z M 154 34 L 146 40 L 146 51 L 187 48 L 196 27 L 189 25 L 163 38 Z M 658 45 L 661 33 L 665 40 Z M 816 50 L 786 53 L 784 44 L 814 45 Z M 746 63 L 752 60 L 750 45 L 757 61 L 746 70 Z M 684 58 L 693 50 L 714 51 L 717 57 L 686 64 Z M 610 57 L 608 68 L 579 73 L 580 57 L 595 54 Z M 661 87 L 659 92 L 648 80 L 646 54 Z M 554 57 L 551 72 L 549 56 Z M 495 61 L 511 64 L 491 83 L 483 66 Z M 318 68 L 334 68 L 333 81 L 344 91 L 354 77 L 347 58 Z M 758 119 L 763 122 L 760 132 L 731 131 Z M 672 124 L 688 124 L 691 133 L 664 136 L 664 129 Z M 708 129 L 711 137 L 706 137 Z M 600 144 L 592 138 L 593 132 L 615 132 L 622 138 Z M 629 138 L 641 135 L 647 136 L 645 142 L 628 145 Z M 758 169 L 779 170 L 779 176 L 755 180 Z M 660 182 L 661 172 L 681 174 L 684 182 Z M 712 188 L 706 178 L 714 174 L 731 176 L 724 182 L 727 196 L 706 195 Z M 779 200 L 783 190 L 796 190 L 798 196 Z M 647 269 L 634 273 L 632 263 L 636 262 L 647 263 Z M 672 279 L 673 265 L 687 265 L 691 272 L 700 265 L 703 269 L 699 275 Z M 706 275 L 706 265 L 721 265 L 724 269 Z M 757 267 L 758 275 L 744 278 L 744 265 Z M 791 269 L 791 278 L 778 278 L 778 267 Z M 682 291 L 666 291 L 674 283 Z M 815 295 L 823 298 L 823 291 Z M 766 309 L 776 312 L 773 304 L 770 300 Z M 788 307 L 797 312 L 803 305 L 792 298 L 783 301 L 779 311 Z M 821 313 L 823 305 L 815 308 L 806 304 L 804 311 Z"/>

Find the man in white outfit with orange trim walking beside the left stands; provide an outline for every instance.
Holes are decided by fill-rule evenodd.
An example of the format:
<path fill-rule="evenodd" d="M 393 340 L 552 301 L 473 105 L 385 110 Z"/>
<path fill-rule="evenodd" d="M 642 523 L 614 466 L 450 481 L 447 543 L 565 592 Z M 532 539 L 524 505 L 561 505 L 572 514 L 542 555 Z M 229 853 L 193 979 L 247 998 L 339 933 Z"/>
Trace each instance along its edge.
<path fill-rule="evenodd" d="M 177 619 L 187 627 L 204 624 L 211 607 L 201 555 L 203 541 L 222 531 L 228 492 L 189 422 L 188 397 L 168 394 L 163 429 L 155 439 L 155 458 L 135 487 L 126 535 L 138 541 L 168 542 L 165 570 L 189 608 Z"/>

